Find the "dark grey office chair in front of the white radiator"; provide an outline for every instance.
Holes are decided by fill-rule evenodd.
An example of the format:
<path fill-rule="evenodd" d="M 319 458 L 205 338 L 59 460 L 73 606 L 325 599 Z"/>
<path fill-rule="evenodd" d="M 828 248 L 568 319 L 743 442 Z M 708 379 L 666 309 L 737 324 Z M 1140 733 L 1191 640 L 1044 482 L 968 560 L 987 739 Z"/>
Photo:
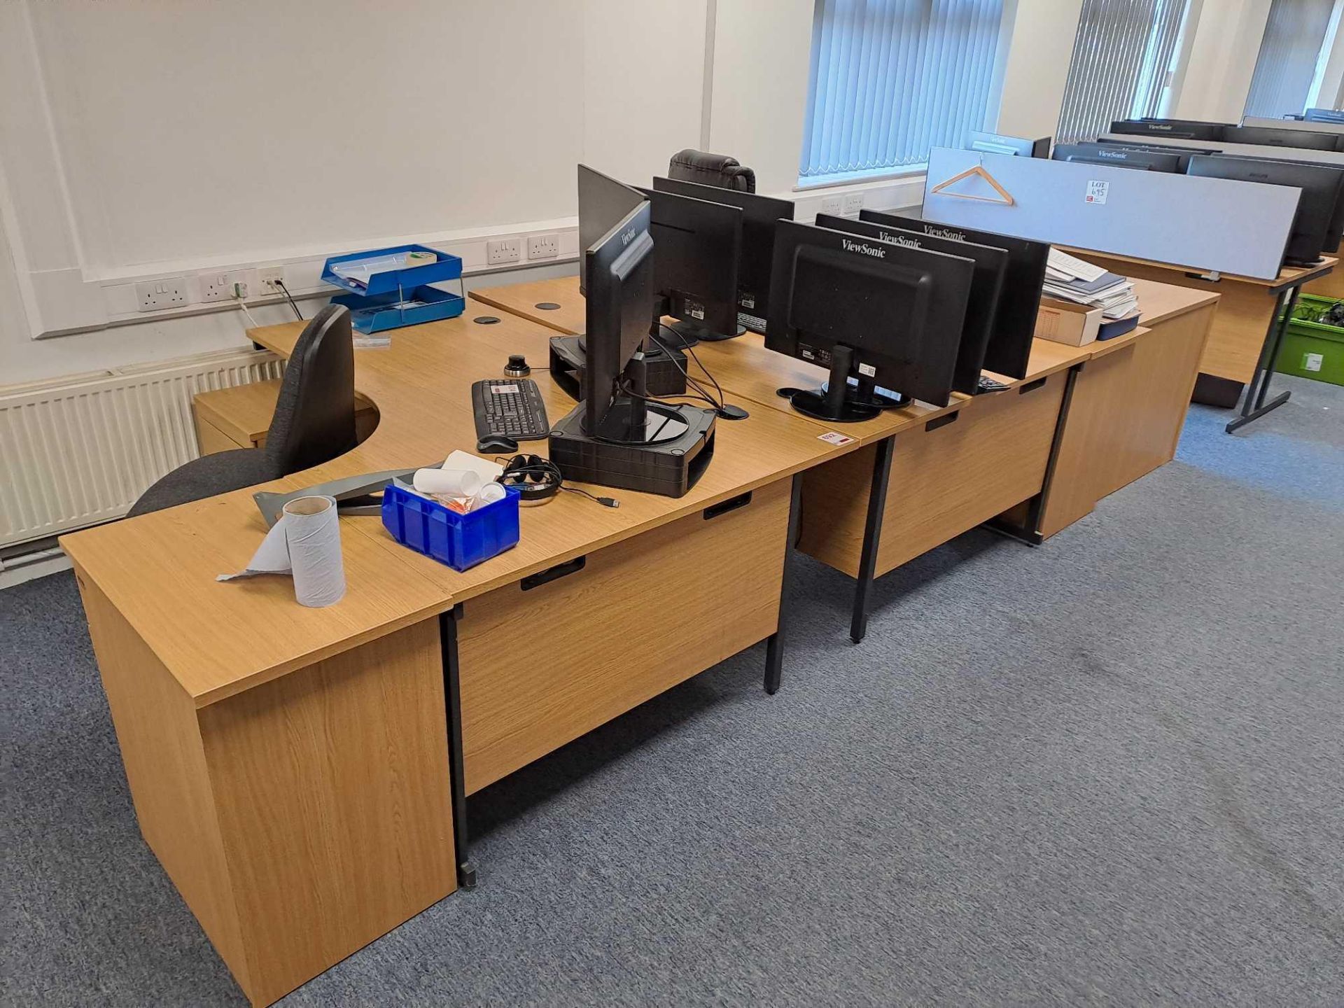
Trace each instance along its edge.
<path fill-rule="evenodd" d="M 140 495 L 126 517 L 278 480 L 349 452 L 355 437 L 355 344 L 349 309 L 328 305 L 285 366 L 265 448 L 203 456 Z"/>

